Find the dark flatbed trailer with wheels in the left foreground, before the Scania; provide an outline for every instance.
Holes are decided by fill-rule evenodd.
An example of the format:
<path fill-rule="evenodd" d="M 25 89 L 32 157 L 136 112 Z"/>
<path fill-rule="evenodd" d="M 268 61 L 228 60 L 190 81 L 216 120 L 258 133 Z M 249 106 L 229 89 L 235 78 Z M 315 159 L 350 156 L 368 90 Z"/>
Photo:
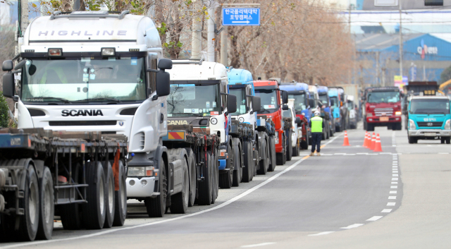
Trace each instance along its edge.
<path fill-rule="evenodd" d="M 128 153 L 123 135 L 42 128 L 0 130 L 0 240 L 50 239 L 64 229 L 123 226 Z"/>

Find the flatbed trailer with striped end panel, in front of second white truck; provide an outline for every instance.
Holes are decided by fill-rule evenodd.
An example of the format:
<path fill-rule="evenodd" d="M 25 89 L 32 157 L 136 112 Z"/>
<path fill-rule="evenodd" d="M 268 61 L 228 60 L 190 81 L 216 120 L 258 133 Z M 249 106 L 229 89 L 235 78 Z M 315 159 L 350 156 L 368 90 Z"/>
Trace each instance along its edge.
<path fill-rule="evenodd" d="M 197 201 L 199 205 L 214 204 L 218 198 L 218 157 L 220 140 L 216 134 L 210 134 L 209 128 L 194 127 L 190 125 L 168 125 L 168 135 L 163 137 L 163 146 L 168 148 L 168 162 L 171 179 L 168 183 L 171 190 L 175 190 L 174 183 L 189 183 L 183 186 L 189 193 L 188 206 L 192 207 Z M 182 164 L 187 165 L 186 176 L 180 176 Z M 180 172 L 180 174 L 178 174 Z M 185 177 L 185 181 L 181 181 Z M 187 180 L 187 181 L 186 181 Z M 166 207 L 173 205 L 171 201 L 177 199 L 168 198 Z"/>

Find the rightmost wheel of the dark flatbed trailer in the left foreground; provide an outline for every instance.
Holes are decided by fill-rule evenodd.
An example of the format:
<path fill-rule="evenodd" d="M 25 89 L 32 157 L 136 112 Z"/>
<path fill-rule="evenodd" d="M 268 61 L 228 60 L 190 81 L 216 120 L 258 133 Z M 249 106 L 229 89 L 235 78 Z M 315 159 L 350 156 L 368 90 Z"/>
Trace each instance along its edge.
<path fill-rule="evenodd" d="M 110 162 L 111 163 L 111 162 Z M 113 162 L 114 164 L 114 162 Z M 124 164 L 119 160 L 119 190 L 114 191 L 114 220 L 113 226 L 123 226 L 127 217 L 127 175 Z"/>

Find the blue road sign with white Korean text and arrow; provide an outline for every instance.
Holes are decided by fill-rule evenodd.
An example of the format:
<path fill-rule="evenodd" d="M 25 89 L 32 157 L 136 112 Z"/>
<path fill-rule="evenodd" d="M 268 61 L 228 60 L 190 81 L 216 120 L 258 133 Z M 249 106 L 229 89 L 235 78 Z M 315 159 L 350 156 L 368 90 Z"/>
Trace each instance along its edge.
<path fill-rule="evenodd" d="M 260 25 L 260 8 L 223 8 L 223 25 Z"/>

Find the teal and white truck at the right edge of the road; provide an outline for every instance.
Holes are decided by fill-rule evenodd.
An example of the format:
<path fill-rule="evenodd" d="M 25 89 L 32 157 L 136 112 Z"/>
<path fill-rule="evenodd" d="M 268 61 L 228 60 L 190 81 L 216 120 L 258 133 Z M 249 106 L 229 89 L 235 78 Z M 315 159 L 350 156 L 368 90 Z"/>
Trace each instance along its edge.
<path fill-rule="evenodd" d="M 409 143 L 416 143 L 419 139 L 440 139 L 441 143 L 450 144 L 451 114 L 448 97 L 435 95 L 409 97 L 407 111 L 409 112 L 407 125 Z"/>

